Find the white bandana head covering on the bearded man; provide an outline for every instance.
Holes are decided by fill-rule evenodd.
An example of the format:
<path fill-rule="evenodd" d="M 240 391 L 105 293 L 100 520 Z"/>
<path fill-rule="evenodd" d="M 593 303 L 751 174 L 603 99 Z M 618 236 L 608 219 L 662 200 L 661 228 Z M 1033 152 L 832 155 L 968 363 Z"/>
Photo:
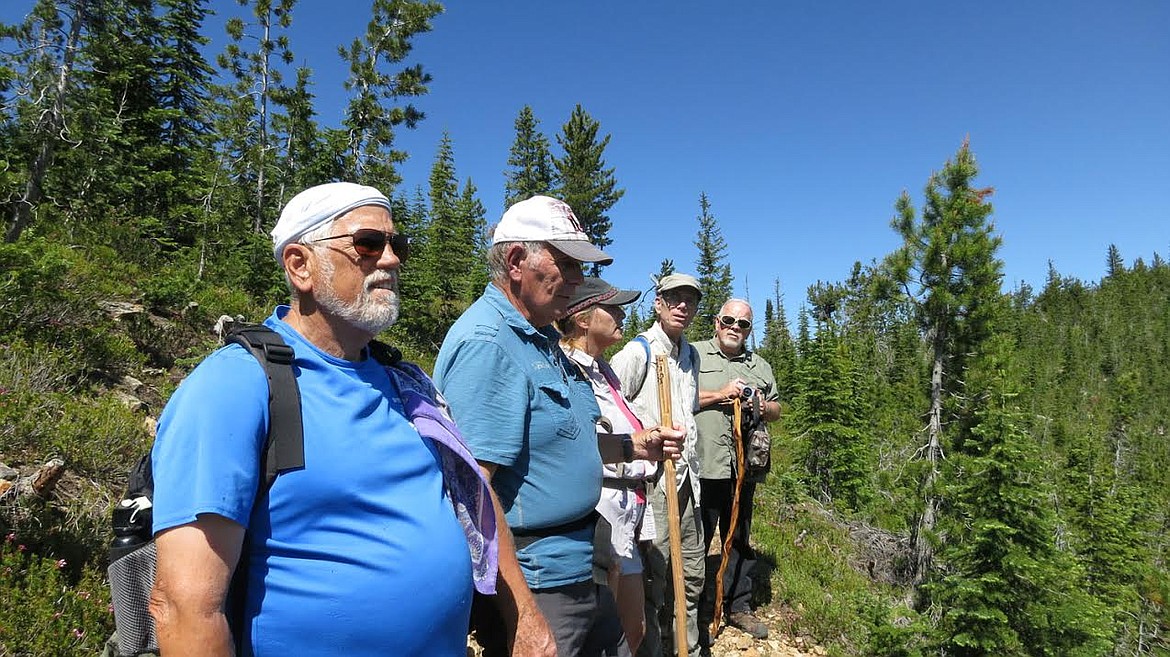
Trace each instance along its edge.
<path fill-rule="evenodd" d="M 273 227 L 273 255 L 280 262 L 284 247 L 362 206 L 381 206 L 390 210 L 390 199 L 373 187 L 356 182 L 326 182 L 309 187 L 284 205 L 280 220 Z"/>

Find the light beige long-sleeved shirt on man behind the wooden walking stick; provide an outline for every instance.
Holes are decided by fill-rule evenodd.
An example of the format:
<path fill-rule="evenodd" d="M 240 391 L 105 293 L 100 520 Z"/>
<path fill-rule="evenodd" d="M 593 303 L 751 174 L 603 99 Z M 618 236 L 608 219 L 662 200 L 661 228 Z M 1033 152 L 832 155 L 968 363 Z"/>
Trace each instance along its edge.
<path fill-rule="evenodd" d="M 667 338 L 658 323 L 642 333 L 651 347 L 651 361 L 646 361 L 646 350 L 636 340 L 631 340 L 619 351 L 610 365 L 621 380 L 621 390 L 629 401 L 638 419 L 646 427 L 654 427 L 662 421 L 659 409 L 658 376 L 654 361 L 656 355 L 667 355 L 667 368 L 670 373 L 670 419 L 687 431 L 683 442 L 682 458 L 675 462 L 675 485 L 681 489 L 690 477 L 690 489 L 695 505 L 698 505 L 698 456 L 695 444 L 698 429 L 695 427 L 695 413 L 698 410 L 698 354 L 680 337 L 676 347 Z M 649 517 L 649 513 L 647 513 Z"/>

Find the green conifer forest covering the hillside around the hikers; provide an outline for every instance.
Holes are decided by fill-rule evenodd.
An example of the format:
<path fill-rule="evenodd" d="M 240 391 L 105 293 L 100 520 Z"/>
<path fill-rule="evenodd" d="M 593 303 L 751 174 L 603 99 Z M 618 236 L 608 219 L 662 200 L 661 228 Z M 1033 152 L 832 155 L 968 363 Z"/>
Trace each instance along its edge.
<path fill-rule="evenodd" d="M 395 144 L 427 120 L 412 103 L 442 71 L 411 48 L 441 5 L 373 0 L 328 82 L 288 36 L 295 0 L 240 0 L 215 53 L 207 5 L 37 0 L 0 25 L 0 656 L 101 651 L 110 510 L 216 319 L 284 303 L 268 231 L 292 194 L 392 198 L 413 244 L 385 339 L 427 371 L 488 282 L 497 212 L 452 139 Z M 625 191 L 580 103 L 517 102 L 489 195 L 565 199 L 605 248 Z M 1170 244 L 1103 243 L 1095 281 L 1049 265 L 1006 288 L 997 174 L 962 137 L 890 191 L 896 249 L 811 286 L 797 317 L 779 281 L 755 303 L 784 409 L 757 602 L 831 655 L 1170 655 Z M 425 188 L 401 186 L 407 157 L 433 162 Z M 681 193 L 695 251 L 646 275 L 698 276 L 707 339 L 735 272 L 717 199 Z M 639 305 L 626 337 L 652 319 Z"/>

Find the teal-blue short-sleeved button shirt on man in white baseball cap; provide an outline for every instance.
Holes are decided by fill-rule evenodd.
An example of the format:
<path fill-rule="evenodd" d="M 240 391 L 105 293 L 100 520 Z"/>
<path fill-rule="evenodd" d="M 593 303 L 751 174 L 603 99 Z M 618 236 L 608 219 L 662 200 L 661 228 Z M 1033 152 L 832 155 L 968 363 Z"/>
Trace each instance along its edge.
<path fill-rule="evenodd" d="M 491 485 L 515 530 L 589 514 L 601 495 L 593 389 L 560 351 L 489 284 L 447 332 L 434 380 L 475 458 L 495 463 Z M 543 538 L 517 552 L 528 586 L 592 579 L 592 530 Z"/>

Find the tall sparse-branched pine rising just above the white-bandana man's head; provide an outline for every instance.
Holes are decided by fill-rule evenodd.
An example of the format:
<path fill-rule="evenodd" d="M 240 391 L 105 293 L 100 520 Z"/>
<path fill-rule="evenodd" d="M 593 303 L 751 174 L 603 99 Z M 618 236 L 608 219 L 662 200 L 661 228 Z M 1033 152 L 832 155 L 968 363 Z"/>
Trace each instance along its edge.
<path fill-rule="evenodd" d="M 431 19 L 441 12 L 438 2 L 373 0 L 365 34 L 338 50 L 350 65 L 345 90 L 351 96 L 343 122 L 347 180 L 379 189 L 392 189 L 401 180 L 395 165 L 406 160 L 406 153 L 394 148 L 394 129 L 414 127 L 424 113 L 412 104 L 387 103 L 425 95 L 431 74 L 421 64 L 386 69 L 410 55 L 411 40 L 431 32 Z"/>

